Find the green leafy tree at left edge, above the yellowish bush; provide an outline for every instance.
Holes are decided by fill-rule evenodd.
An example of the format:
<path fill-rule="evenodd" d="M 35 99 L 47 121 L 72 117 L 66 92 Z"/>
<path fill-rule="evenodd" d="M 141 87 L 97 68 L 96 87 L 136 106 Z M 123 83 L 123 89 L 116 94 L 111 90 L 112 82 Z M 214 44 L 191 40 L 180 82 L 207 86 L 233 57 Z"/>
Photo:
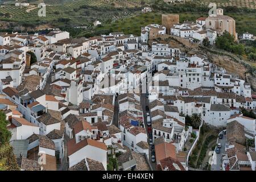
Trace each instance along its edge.
<path fill-rule="evenodd" d="M 0 146 L 9 142 L 11 133 L 7 129 L 6 115 L 3 111 L 0 111 Z"/>

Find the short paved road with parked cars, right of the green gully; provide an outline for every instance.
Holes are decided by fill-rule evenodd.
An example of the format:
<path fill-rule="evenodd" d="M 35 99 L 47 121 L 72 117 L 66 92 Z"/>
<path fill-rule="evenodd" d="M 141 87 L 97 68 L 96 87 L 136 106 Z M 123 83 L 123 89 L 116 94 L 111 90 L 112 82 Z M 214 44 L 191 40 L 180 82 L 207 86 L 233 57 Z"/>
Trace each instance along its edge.
<path fill-rule="evenodd" d="M 216 154 L 216 160 L 212 165 L 212 171 L 221 171 L 222 164 L 222 155 L 225 155 L 225 144 L 226 144 L 226 135 L 223 135 L 222 139 L 218 139 L 217 143 L 221 143 L 220 154 Z"/>

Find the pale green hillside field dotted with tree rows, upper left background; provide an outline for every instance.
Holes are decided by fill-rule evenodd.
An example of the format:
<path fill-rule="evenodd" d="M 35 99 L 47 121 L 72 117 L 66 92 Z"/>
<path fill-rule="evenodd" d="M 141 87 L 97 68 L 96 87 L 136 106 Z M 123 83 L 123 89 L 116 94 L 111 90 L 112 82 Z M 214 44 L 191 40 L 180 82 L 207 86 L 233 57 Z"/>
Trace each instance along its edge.
<path fill-rule="evenodd" d="M 50 0 L 48 0 L 50 1 Z M 51 0 L 59 1 L 59 0 Z M 115 9 L 109 2 L 104 0 L 79 0 L 63 3 L 61 5 L 46 6 L 46 17 L 39 17 L 38 10 L 26 12 L 28 7 L 4 6 L 0 7 L 0 20 L 24 23 L 52 23 L 63 25 L 57 22 L 59 18 L 69 19 L 74 26 L 82 26 L 92 23 L 95 19 L 105 21 L 106 19 L 118 19 L 130 16 L 134 10 Z"/>

